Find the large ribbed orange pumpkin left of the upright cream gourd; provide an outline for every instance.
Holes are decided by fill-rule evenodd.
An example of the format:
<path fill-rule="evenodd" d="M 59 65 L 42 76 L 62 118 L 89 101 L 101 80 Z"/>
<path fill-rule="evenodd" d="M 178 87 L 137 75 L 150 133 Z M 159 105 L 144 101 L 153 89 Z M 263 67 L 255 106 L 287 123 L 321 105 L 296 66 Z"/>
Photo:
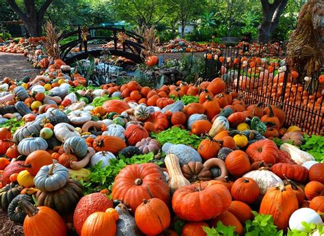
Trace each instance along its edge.
<path fill-rule="evenodd" d="M 113 199 L 122 200 L 133 212 L 143 199 L 159 198 L 169 204 L 170 192 L 165 176 L 154 163 L 133 164 L 120 171 L 113 184 Z"/>

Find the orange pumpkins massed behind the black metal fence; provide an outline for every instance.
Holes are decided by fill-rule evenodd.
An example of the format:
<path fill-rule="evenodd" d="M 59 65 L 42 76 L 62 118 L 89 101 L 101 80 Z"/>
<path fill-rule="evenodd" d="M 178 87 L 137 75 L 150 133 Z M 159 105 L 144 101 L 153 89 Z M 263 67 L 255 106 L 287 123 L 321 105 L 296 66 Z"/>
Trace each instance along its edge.
<path fill-rule="evenodd" d="M 206 54 L 206 57 L 211 57 L 211 54 Z M 257 101 L 257 96 L 265 96 L 265 101 L 269 103 L 273 100 L 280 101 L 282 94 L 284 93 L 284 105 L 292 106 L 293 112 L 290 114 L 290 120 L 303 120 L 305 114 L 315 113 L 316 115 L 310 117 L 309 120 L 299 122 L 299 126 L 306 130 L 312 130 L 312 125 L 319 123 L 317 129 L 314 129 L 314 133 L 320 134 L 323 132 L 324 120 L 321 117 L 324 114 L 323 106 L 323 94 L 321 91 L 321 85 L 324 84 L 324 75 L 319 75 L 317 79 L 320 83 L 319 90 L 310 93 L 306 90 L 306 86 L 303 83 L 307 83 L 312 79 L 310 77 L 304 77 L 303 81 L 299 77 L 297 71 L 288 73 L 286 79 L 287 83 L 284 86 L 284 77 L 286 74 L 286 66 L 280 66 L 279 63 L 269 62 L 265 58 L 260 57 L 217 57 L 217 60 L 224 64 L 221 67 L 221 74 L 224 81 L 230 83 L 234 88 L 239 83 L 239 88 L 243 90 L 250 90 L 250 98 L 245 97 L 249 101 Z M 243 75 L 238 77 L 237 66 L 241 60 L 241 70 Z M 274 73 L 278 70 L 278 73 Z M 298 83 L 297 83 L 298 81 Z M 283 91 L 283 89 L 285 89 Z M 245 94 L 247 96 L 247 94 Z M 300 107 L 306 110 L 306 112 L 298 112 Z"/>

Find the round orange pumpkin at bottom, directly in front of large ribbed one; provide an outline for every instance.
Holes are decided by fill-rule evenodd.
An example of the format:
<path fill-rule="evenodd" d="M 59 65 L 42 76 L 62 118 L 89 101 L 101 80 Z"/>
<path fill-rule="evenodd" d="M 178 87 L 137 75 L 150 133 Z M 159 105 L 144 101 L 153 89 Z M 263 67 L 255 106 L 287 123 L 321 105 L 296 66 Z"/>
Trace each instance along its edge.
<path fill-rule="evenodd" d="M 135 211 L 135 222 L 146 235 L 157 235 L 170 226 L 170 211 L 159 198 L 144 199 Z"/>

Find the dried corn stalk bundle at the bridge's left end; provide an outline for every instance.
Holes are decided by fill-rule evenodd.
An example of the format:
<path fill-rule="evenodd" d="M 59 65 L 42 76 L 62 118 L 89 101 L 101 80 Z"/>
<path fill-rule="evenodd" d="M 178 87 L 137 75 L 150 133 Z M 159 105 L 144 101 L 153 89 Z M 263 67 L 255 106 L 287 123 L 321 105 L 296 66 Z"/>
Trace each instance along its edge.
<path fill-rule="evenodd" d="M 50 60 L 55 60 L 59 58 L 59 44 L 58 38 L 61 36 L 60 33 L 57 33 L 56 27 L 51 23 L 51 21 L 46 22 L 45 24 L 45 31 L 46 31 L 46 42 L 45 48 L 47 54 L 50 57 Z"/>

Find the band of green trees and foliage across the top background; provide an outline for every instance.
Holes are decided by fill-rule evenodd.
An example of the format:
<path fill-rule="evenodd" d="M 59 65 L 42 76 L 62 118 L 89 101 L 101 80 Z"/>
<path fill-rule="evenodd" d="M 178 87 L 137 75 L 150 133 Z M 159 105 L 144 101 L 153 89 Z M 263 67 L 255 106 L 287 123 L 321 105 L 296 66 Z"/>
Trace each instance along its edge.
<path fill-rule="evenodd" d="M 196 41 L 232 36 L 268 42 L 288 39 L 304 3 L 306 0 L 0 0 L 0 21 L 21 18 L 35 34 L 40 34 L 44 21 L 53 22 L 60 31 L 126 21 L 130 29 L 154 25 L 161 41 L 176 36 Z M 32 16 L 28 21 L 37 20 L 34 29 L 28 25 L 27 15 Z M 181 29 L 189 22 L 195 23 L 192 33 L 178 32 L 178 26 Z"/>

